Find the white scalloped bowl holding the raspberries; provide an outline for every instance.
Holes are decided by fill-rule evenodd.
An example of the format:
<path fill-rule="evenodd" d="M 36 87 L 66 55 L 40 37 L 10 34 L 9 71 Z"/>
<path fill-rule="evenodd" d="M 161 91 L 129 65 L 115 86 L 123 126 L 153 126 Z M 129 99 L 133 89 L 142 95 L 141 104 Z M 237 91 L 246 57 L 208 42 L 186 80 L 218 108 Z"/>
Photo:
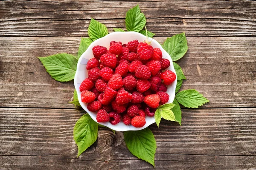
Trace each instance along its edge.
<path fill-rule="evenodd" d="M 95 45 L 102 45 L 102 46 L 105 46 L 106 48 L 109 49 L 109 45 L 110 45 L 111 41 L 121 41 L 124 44 L 124 43 L 127 43 L 127 42 L 132 41 L 132 40 L 138 40 L 139 42 L 142 42 L 143 40 L 146 40 L 146 37 L 143 34 L 133 32 L 133 31 L 130 31 L 130 32 L 113 32 L 113 33 L 110 33 L 110 34 L 106 35 L 105 37 L 102 37 L 102 38 L 92 42 L 90 44 L 90 46 L 87 48 L 87 50 L 84 52 L 84 54 L 82 54 L 81 57 L 79 58 L 79 61 L 78 61 L 78 64 L 77 64 L 77 69 L 76 69 L 76 75 L 75 75 L 75 79 L 74 79 L 74 84 L 75 84 L 75 88 L 76 88 L 76 91 L 77 91 L 77 94 L 78 94 L 78 100 L 79 100 L 79 103 L 80 103 L 81 107 L 85 111 L 87 111 L 87 113 L 89 113 L 89 115 L 91 116 L 91 118 L 93 118 L 94 121 L 96 121 L 96 113 L 88 111 L 87 104 L 81 102 L 81 92 L 79 91 L 79 86 L 80 86 L 81 82 L 85 78 L 88 77 L 87 70 L 86 70 L 86 65 L 87 65 L 87 61 L 89 59 L 93 58 L 92 48 Z M 151 41 L 151 45 L 154 48 L 157 47 L 157 48 L 161 49 L 161 51 L 163 52 L 163 58 L 166 58 L 166 59 L 170 60 L 171 65 L 170 65 L 169 68 L 167 68 L 167 70 L 171 70 L 176 74 L 170 55 L 162 48 L 162 46 L 156 40 L 154 40 L 152 38 L 148 38 L 148 40 Z M 173 100 L 174 100 L 176 84 L 177 84 L 177 79 L 175 79 L 175 81 L 167 87 L 167 93 L 170 95 L 168 103 L 172 103 Z M 140 127 L 140 128 L 134 127 L 132 125 L 125 125 L 123 122 L 119 122 L 117 125 L 112 125 L 110 122 L 102 122 L 102 123 L 99 123 L 99 124 L 107 126 L 107 127 L 111 128 L 113 130 L 127 131 L 127 130 L 141 130 L 141 129 L 144 129 L 144 128 L 148 127 L 149 125 L 151 125 L 154 122 L 155 122 L 154 117 L 146 116 L 146 124 L 143 127 Z"/>

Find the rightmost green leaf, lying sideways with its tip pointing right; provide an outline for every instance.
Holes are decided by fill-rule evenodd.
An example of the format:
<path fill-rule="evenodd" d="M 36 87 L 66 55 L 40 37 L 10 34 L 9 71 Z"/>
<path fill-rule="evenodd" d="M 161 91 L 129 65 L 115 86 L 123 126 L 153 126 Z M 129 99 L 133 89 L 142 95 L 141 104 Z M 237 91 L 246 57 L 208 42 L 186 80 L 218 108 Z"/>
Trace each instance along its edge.
<path fill-rule="evenodd" d="M 180 91 L 175 97 L 177 101 L 186 108 L 198 108 L 198 106 L 209 102 L 209 100 L 195 89 Z"/>

